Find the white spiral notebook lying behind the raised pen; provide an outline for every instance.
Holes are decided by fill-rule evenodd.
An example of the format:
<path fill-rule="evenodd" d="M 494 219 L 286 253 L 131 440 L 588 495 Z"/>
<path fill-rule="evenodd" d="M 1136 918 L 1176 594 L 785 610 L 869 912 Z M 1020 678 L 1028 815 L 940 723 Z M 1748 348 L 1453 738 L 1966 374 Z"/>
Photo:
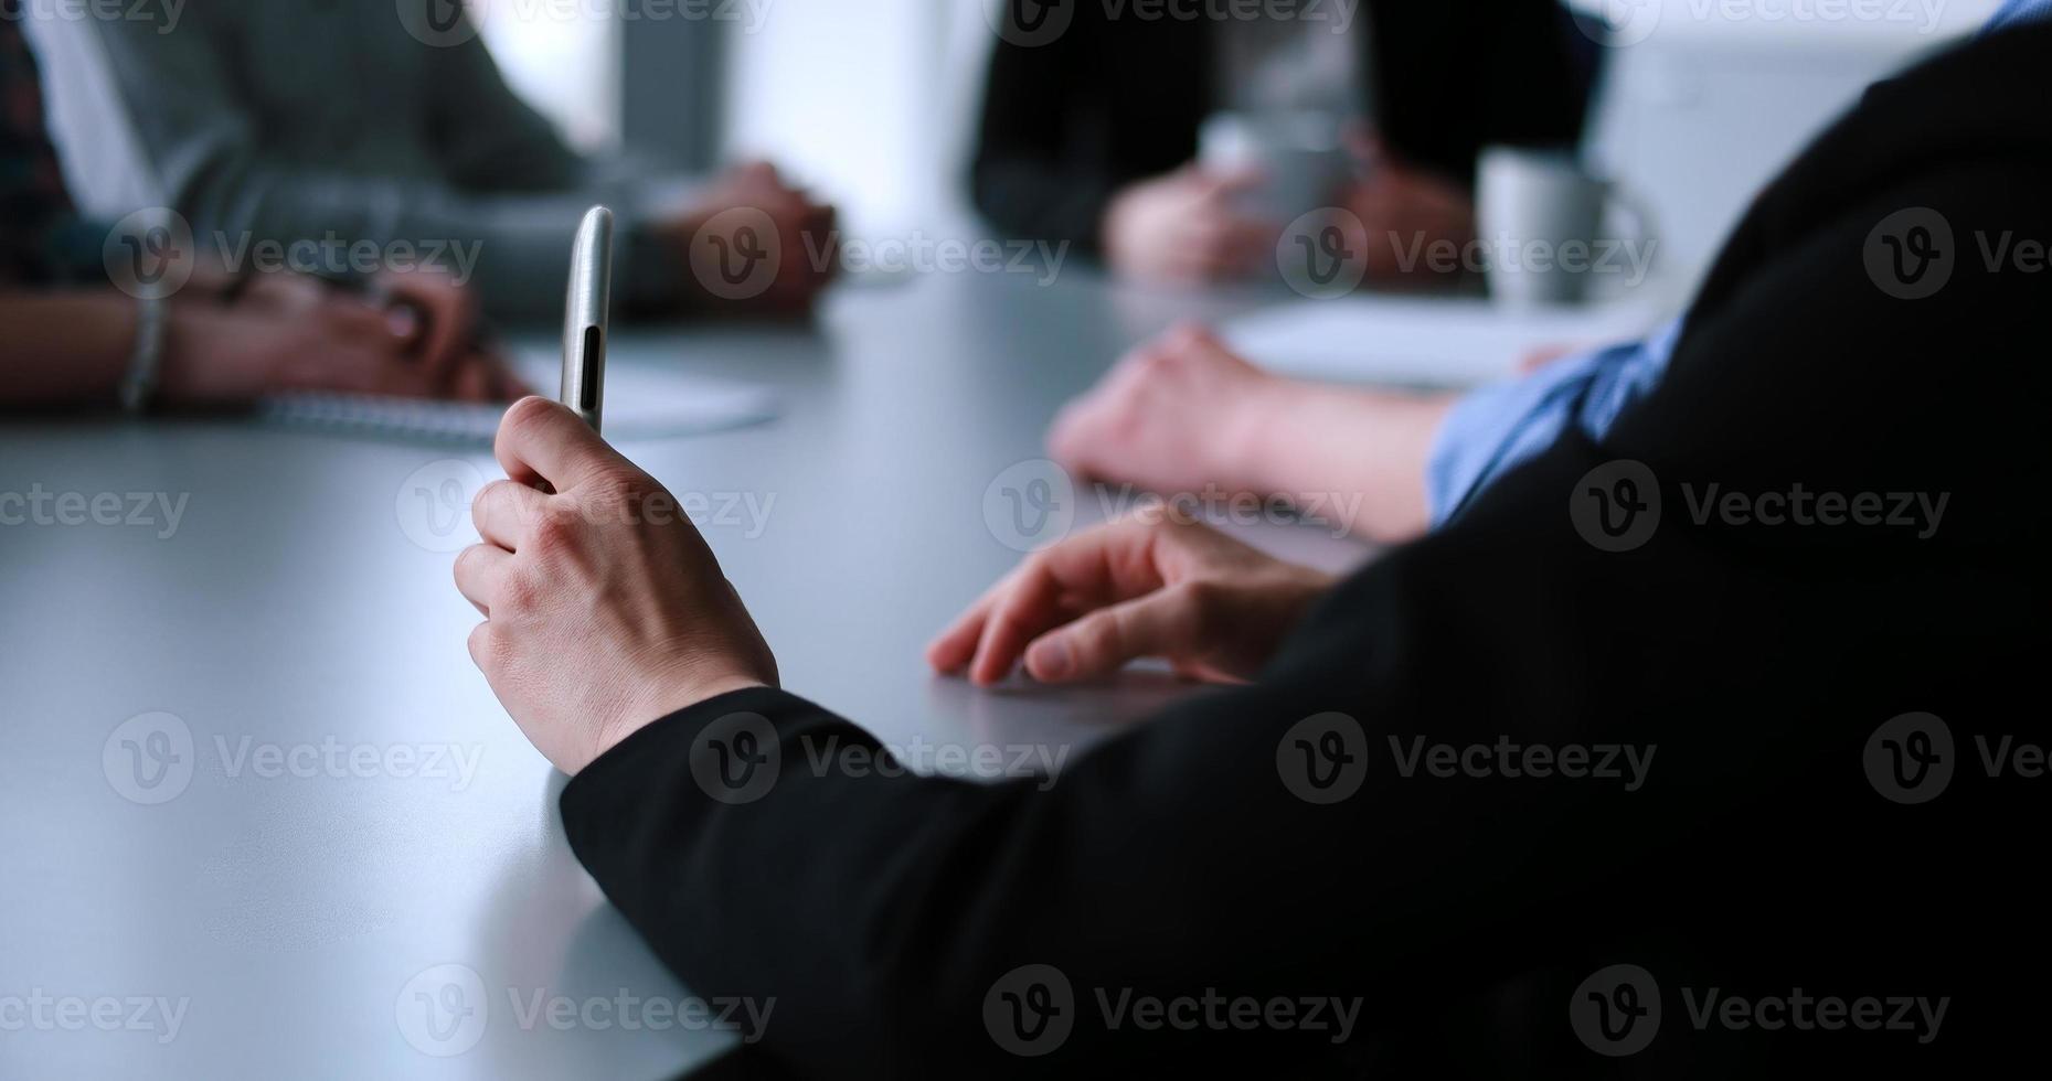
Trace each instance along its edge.
<path fill-rule="evenodd" d="M 548 363 L 521 363 L 521 375 L 544 394 L 554 388 Z M 256 414 L 271 425 L 404 439 L 490 445 L 505 404 L 429 402 L 373 394 L 277 394 Z M 618 365 L 607 373 L 605 439 L 671 439 L 774 421 L 778 400 L 767 388 L 696 379 L 681 373 Z"/>

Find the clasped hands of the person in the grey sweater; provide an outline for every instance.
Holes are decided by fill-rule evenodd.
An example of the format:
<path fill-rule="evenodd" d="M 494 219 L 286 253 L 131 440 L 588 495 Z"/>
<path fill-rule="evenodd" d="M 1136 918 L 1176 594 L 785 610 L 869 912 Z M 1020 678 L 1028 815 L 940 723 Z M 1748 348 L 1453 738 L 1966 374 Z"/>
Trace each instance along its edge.
<path fill-rule="evenodd" d="M 716 244 L 718 250 L 745 252 L 753 240 L 743 230 L 753 230 L 745 217 L 726 215 L 731 209 L 757 209 L 770 217 L 776 250 L 761 250 L 776 258 L 776 273 L 767 287 L 745 299 L 728 299 L 712 291 L 712 285 L 698 275 L 702 269 L 692 261 L 694 246 Z M 724 217 L 722 217 L 724 215 Z M 708 232 L 710 230 L 710 232 Z M 710 312 L 765 312 L 802 314 L 813 299 L 833 281 L 837 263 L 833 250 L 835 211 L 831 205 L 815 203 L 811 195 L 784 183 L 776 166 L 767 162 L 745 162 L 728 168 L 700 197 L 698 207 L 683 219 L 659 228 L 679 252 L 679 263 L 692 267 L 687 275 L 687 308 Z"/>

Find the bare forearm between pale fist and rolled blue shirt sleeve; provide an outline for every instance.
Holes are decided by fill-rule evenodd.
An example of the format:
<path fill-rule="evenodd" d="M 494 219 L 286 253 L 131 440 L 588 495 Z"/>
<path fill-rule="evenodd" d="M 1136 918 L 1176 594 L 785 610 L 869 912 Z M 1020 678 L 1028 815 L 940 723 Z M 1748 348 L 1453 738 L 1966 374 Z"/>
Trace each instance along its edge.
<path fill-rule="evenodd" d="M 1235 486 L 1377 542 L 1424 533 L 1426 464 L 1453 394 L 1397 394 L 1276 379 L 1250 404 Z"/>

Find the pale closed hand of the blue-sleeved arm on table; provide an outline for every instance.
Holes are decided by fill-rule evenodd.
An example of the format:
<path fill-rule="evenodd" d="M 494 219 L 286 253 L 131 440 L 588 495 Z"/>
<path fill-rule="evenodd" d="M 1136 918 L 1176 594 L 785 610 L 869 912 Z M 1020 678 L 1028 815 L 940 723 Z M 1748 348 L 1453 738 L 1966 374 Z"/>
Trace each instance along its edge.
<path fill-rule="evenodd" d="M 1155 492 L 1250 488 L 1254 447 L 1278 423 L 1278 379 L 1194 324 L 1135 349 L 1063 406 L 1049 453 L 1069 472 Z"/>

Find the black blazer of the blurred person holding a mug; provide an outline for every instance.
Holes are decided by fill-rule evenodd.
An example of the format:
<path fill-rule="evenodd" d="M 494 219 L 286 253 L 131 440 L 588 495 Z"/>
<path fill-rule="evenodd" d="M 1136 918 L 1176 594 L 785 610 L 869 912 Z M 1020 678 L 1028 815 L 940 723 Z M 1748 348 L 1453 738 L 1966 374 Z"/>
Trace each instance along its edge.
<path fill-rule="evenodd" d="M 1196 156 L 1221 101 L 1219 23 L 1139 18 L 1135 4 L 1114 16 L 1088 0 L 1067 10 L 1049 43 L 997 43 L 971 193 L 1008 236 L 1096 252 L 1118 189 Z M 1406 160 L 1465 183 L 1484 146 L 1580 137 L 1594 47 L 1555 0 L 1363 0 L 1354 18 L 1373 27 L 1356 39 L 1381 135 Z"/>

